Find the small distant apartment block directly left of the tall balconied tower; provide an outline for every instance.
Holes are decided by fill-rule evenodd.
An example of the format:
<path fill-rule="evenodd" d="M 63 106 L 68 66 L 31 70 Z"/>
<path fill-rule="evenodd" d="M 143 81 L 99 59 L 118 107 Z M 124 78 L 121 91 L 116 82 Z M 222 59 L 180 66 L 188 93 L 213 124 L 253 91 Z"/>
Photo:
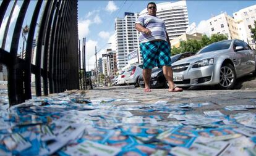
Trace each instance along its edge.
<path fill-rule="evenodd" d="M 106 67 L 103 65 L 103 68 L 106 68 L 105 75 L 114 78 L 117 73 L 116 52 L 112 49 L 106 49 L 106 54 L 102 54 L 102 57 L 106 58 Z"/>

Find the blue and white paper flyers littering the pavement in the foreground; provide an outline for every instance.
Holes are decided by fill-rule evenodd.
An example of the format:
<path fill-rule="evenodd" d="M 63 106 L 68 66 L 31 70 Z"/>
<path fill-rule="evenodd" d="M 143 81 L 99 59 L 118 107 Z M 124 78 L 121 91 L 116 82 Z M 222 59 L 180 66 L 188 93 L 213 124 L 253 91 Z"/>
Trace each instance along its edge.
<path fill-rule="evenodd" d="M 205 105 L 211 104 L 145 105 L 129 99 L 87 99 L 75 93 L 33 97 L 9 109 L 2 104 L 0 155 L 256 154 L 254 113 L 189 113 Z M 134 110 L 160 115 L 138 116 Z"/>

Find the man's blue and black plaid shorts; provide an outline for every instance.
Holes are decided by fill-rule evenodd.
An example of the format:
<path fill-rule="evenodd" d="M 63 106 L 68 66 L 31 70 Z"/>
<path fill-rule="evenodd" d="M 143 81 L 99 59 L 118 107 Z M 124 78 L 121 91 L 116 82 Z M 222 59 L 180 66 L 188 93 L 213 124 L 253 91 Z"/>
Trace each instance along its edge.
<path fill-rule="evenodd" d="M 166 41 L 140 43 L 143 57 L 143 69 L 171 66 L 171 51 Z"/>

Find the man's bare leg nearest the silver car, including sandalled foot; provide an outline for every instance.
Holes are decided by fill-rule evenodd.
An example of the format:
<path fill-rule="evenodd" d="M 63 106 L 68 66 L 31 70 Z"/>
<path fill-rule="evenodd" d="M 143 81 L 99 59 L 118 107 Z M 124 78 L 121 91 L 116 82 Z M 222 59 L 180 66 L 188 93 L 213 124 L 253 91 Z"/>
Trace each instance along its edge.
<path fill-rule="evenodd" d="M 182 91 L 182 88 L 177 88 L 173 83 L 173 68 L 171 66 L 163 66 L 163 74 L 169 84 L 168 91 Z"/>

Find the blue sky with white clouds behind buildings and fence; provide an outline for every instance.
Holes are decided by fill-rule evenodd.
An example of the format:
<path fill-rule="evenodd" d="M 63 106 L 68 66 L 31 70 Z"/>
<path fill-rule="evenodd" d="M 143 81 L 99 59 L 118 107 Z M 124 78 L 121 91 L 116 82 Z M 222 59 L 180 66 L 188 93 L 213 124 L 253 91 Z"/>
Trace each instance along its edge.
<path fill-rule="evenodd" d="M 1 4 L 0 0 L 0 4 Z M 14 1 L 11 1 L 12 3 Z M 14 10 L 14 17 L 11 20 L 9 31 L 13 31 L 15 19 L 20 10 L 23 1 L 18 1 Z M 45 1 L 44 1 L 45 2 Z M 83 1 L 78 2 L 78 24 L 79 24 L 79 39 L 82 44 L 82 38 L 86 38 L 86 67 L 87 71 L 95 68 L 95 46 L 97 49 L 97 58 L 106 53 L 107 48 L 115 49 L 114 44 L 114 20 L 117 17 L 123 18 L 124 12 L 139 13 L 146 8 L 150 1 Z M 161 2 L 177 2 L 177 1 L 154 1 L 156 4 Z M 233 13 L 245 7 L 253 6 L 256 1 L 186 1 L 189 14 L 189 25 L 195 23 L 197 30 L 201 33 L 205 32 L 206 20 L 213 15 L 219 15 L 222 12 L 227 12 L 233 17 Z M 33 12 L 36 1 L 31 1 L 28 7 L 28 12 Z M 11 10 L 11 9 L 9 9 Z M 30 23 L 31 15 L 25 17 L 23 26 Z M 7 17 L 4 17 L 3 25 L 7 22 Z M 38 22 L 40 23 L 40 19 Z M 0 28 L 0 36 L 3 36 L 3 29 Z M 36 27 L 37 31 L 38 27 Z M 12 33 L 8 34 L 6 49 L 11 43 Z M 36 34 L 35 34 L 36 37 Z M 20 45 L 19 49 L 22 49 Z M 0 38 L 0 44 L 2 43 Z M 82 50 L 82 49 L 81 49 Z"/>

